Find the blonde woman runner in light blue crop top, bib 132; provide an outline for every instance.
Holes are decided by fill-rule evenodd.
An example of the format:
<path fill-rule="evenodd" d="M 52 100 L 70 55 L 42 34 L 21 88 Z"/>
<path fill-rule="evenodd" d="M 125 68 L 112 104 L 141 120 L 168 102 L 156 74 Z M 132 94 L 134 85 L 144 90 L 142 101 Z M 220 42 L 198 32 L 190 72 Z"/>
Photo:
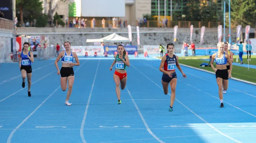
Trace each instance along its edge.
<path fill-rule="evenodd" d="M 215 71 L 215 76 L 218 84 L 218 94 L 221 101 L 221 108 L 224 107 L 223 104 L 223 93 L 222 93 L 222 84 L 223 87 L 227 87 L 228 85 L 228 79 L 231 78 L 231 72 L 232 72 L 232 60 L 230 59 L 230 56 L 224 52 L 225 44 L 224 42 L 219 42 L 217 44 L 218 52 L 212 54 L 212 61 L 211 61 L 211 67 L 212 70 Z M 216 62 L 216 68 L 213 65 L 213 62 Z M 230 64 L 230 73 L 227 71 L 227 62 Z"/>

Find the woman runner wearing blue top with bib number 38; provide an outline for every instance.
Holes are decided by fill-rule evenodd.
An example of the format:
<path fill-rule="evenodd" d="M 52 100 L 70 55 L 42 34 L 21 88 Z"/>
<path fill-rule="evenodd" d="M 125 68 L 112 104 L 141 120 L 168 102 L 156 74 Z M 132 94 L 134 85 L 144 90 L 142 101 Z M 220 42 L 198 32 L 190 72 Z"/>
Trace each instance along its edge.
<path fill-rule="evenodd" d="M 20 53 L 19 66 L 22 76 L 22 87 L 25 87 L 25 79 L 27 76 L 28 81 L 28 96 L 31 96 L 30 87 L 31 87 L 31 77 L 32 77 L 32 67 L 31 63 L 34 62 L 34 55 L 31 50 L 29 50 L 29 42 L 24 42 L 23 50 Z"/>

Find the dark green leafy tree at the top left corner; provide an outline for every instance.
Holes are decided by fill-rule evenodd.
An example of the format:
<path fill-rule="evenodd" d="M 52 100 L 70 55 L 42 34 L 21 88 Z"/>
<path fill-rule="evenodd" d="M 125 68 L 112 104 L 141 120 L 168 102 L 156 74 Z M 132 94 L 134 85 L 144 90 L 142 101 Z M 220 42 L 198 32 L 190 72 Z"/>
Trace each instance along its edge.
<path fill-rule="evenodd" d="M 24 20 L 31 21 L 41 15 L 43 7 L 41 0 L 16 0 L 16 15 L 20 18 L 20 24 Z"/>

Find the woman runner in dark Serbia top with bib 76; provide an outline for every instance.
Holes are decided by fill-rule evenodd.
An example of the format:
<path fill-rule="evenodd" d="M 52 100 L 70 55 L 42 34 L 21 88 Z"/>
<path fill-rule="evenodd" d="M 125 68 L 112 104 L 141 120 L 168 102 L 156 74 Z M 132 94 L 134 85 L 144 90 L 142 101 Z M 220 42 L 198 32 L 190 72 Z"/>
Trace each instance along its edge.
<path fill-rule="evenodd" d="M 164 94 L 168 94 L 168 84 L 171 86 L 171 103 L 169 107 L 169 112 L 172 112 L 173 103 L 175 101 L 175 90 L 177 85 L 177 74 L 175 72 L 176 67 L 180 70 L 183 78 L 186 78 L 186 74 L 181 70 L 180 64 L 178 62 L 178 56 L 174 55 L 174 44 L 167 44 L 167 53 L 163 56 L 159 70 L 163 72 L 162 84 Z"/>

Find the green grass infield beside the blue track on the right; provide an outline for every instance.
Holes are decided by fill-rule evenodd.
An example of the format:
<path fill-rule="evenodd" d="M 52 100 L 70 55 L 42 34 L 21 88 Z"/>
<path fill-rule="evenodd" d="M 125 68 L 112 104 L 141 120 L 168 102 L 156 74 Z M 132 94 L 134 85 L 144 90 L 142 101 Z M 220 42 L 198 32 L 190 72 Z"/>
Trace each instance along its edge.
<path fill-rule="evenodd" d="M 205 57 L 205 56 L 200 56 L 200 57 Z M 209 58 L 209 56 L 207 56 L 207 57 Z M 235 57 L 236 56 L 234 56 L 234 59 L 235 59 Z M 160 57 L 156 57 L 156 58 L 162 59 Z M 202 64 L 203 62 L 208 63 L 209 61 L 207 62 L 207 61 L 200 60 L 200 59 L 184 59 L 184 58 L 185 57 L 179 57 L 179 63 L 180 64 L 186 64 L 186 65 L 189 65 L 191 67 L 197 67 L 197 68 L 200 68 L 200 69 L 203 69 L 203 70 L 208 70 L 208 71 L 214 72 L 212 70 L 212 67 L 200 67 L 200 64 Z M 244 64 L 245 64 L 245 61 L 247 62 L 247 58 L 243 59 L 243 60 L 244 60 Z M 252 64 L 252 63 L 254 63 L 254 65 L 256 65 L 256 56 L 251 57 L 251 61 L 249 61 L 249 64 Z M 213 65 L 214 65 L 214 67 L 216 67 L 215 62 L 213 63 Z M 233 65 L 232 77 L 234 77 L 234 78 L 256 83 L 255 73 L 256 73 L 256 69 L 250 68 L 248 70 L 247 67 L 241 67 L 241 66 Z"/>

